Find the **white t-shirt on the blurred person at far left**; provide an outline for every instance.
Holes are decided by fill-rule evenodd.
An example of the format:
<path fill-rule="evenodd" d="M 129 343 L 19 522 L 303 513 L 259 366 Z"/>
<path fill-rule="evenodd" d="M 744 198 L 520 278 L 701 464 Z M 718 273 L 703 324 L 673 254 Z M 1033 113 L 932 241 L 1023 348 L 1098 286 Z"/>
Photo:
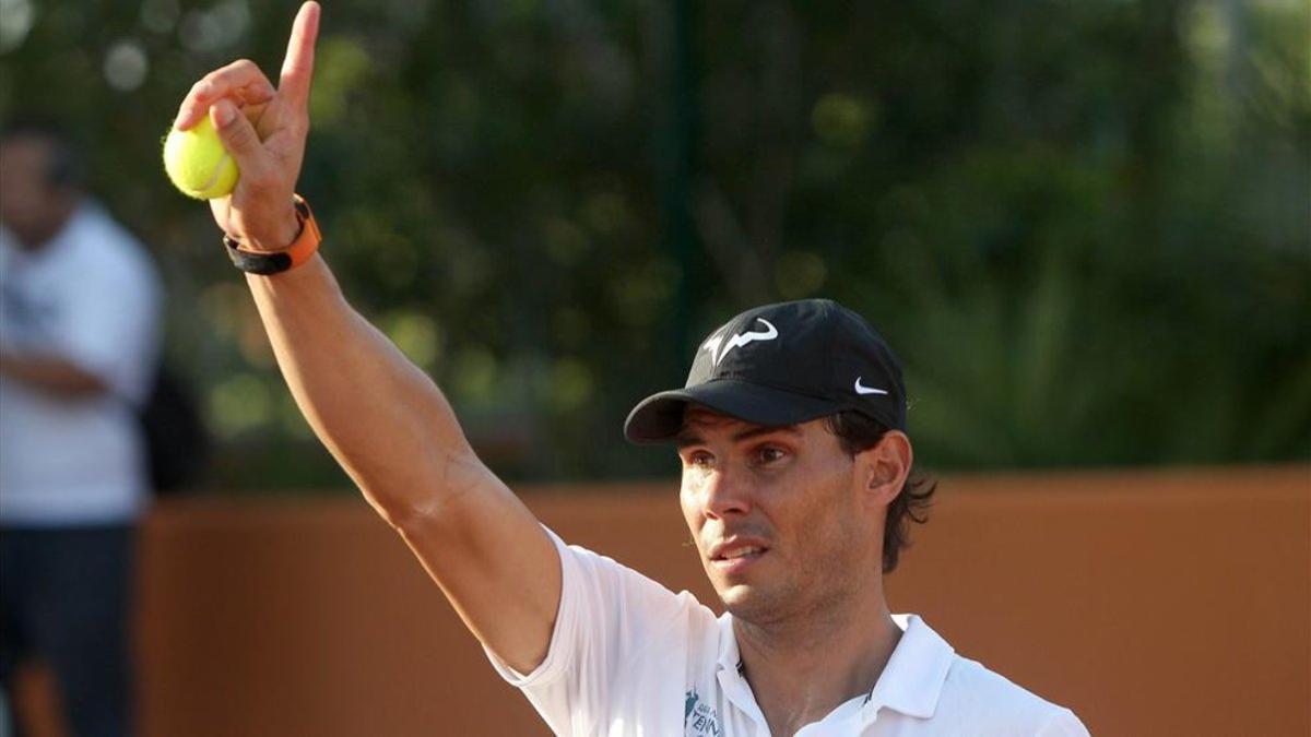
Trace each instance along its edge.
<path fill-rule="evenodd" d="M 64 358 L 110 388 L 60 397 L 0 376 L 0 525 L 115 525 L 140 513 L 135 408 L 153 380 L 159 303 L 146 250 L 94 203 L 35 252 L 0 228 L 0 345 Z"/>

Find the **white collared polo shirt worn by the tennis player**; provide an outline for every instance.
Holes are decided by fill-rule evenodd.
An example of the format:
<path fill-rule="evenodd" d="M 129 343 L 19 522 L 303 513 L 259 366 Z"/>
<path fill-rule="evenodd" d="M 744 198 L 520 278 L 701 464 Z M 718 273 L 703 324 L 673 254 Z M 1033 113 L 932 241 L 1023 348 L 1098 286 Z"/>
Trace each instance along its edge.
<path fill-rule="evenodd" d="M 564 582 L 545 660 L 523 675 L 488 654 L 556 734 L 770 734 L 732 615 L 551 536 Z M 893 619 L 903 635 L 873 688 L 797 737 L 1088 734 L 1070 709 L 957 656 L 920 618 Z"/>

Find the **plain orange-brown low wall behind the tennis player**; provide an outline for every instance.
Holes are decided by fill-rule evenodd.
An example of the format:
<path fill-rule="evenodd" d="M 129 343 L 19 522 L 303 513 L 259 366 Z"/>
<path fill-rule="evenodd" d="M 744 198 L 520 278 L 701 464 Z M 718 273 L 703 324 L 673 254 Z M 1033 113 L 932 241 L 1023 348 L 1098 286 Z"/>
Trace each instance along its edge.
<path fill-rule="evenodd" d="M 1311 733 L 1311 468 L 949 477 L 889 581 L 1095 734 Z M 712 601 L 673 483 L 536 489 Z M 148 736 L 545 734 L 358 500 L 185 500 L 143 535 Z"/>

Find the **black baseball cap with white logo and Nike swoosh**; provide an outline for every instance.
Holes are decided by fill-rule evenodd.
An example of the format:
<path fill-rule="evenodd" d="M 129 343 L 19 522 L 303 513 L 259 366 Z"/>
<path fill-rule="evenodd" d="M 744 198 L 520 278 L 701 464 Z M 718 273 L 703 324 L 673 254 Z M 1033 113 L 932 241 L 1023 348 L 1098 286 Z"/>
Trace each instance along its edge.
<path fill-rule="evenodd" d="M 906 429 L 901 362 L 864 317 L 830 299 L 737 315 L 697 348 L 682 389 L 633 408 L 624 435 L 640 445 L 671 441 L 688 404 L 770 428 L 850 409 Z"/>

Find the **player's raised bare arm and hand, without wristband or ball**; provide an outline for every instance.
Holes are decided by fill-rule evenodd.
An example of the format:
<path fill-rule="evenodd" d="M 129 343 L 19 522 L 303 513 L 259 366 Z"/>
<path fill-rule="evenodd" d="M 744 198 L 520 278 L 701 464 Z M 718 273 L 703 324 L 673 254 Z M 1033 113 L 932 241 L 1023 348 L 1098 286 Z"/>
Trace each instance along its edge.
<path fill-rule="evenodd" d="M 241 169 L 210 201 L 223 232 L 249 250 L 287 249 L 292 193 L 309 130 L 317 3 L 296 13 L 279 85 L 249 60 L 199 80 L 177 130 L 206 115 Z M 545 656 L 560 605 L 555 543 L 475 456 L 446 397 L 346 304 L 320 257 L 249 277 L 278 365 L 315 431 L 396 527 L 479 639 L 528 671 Z"/>

